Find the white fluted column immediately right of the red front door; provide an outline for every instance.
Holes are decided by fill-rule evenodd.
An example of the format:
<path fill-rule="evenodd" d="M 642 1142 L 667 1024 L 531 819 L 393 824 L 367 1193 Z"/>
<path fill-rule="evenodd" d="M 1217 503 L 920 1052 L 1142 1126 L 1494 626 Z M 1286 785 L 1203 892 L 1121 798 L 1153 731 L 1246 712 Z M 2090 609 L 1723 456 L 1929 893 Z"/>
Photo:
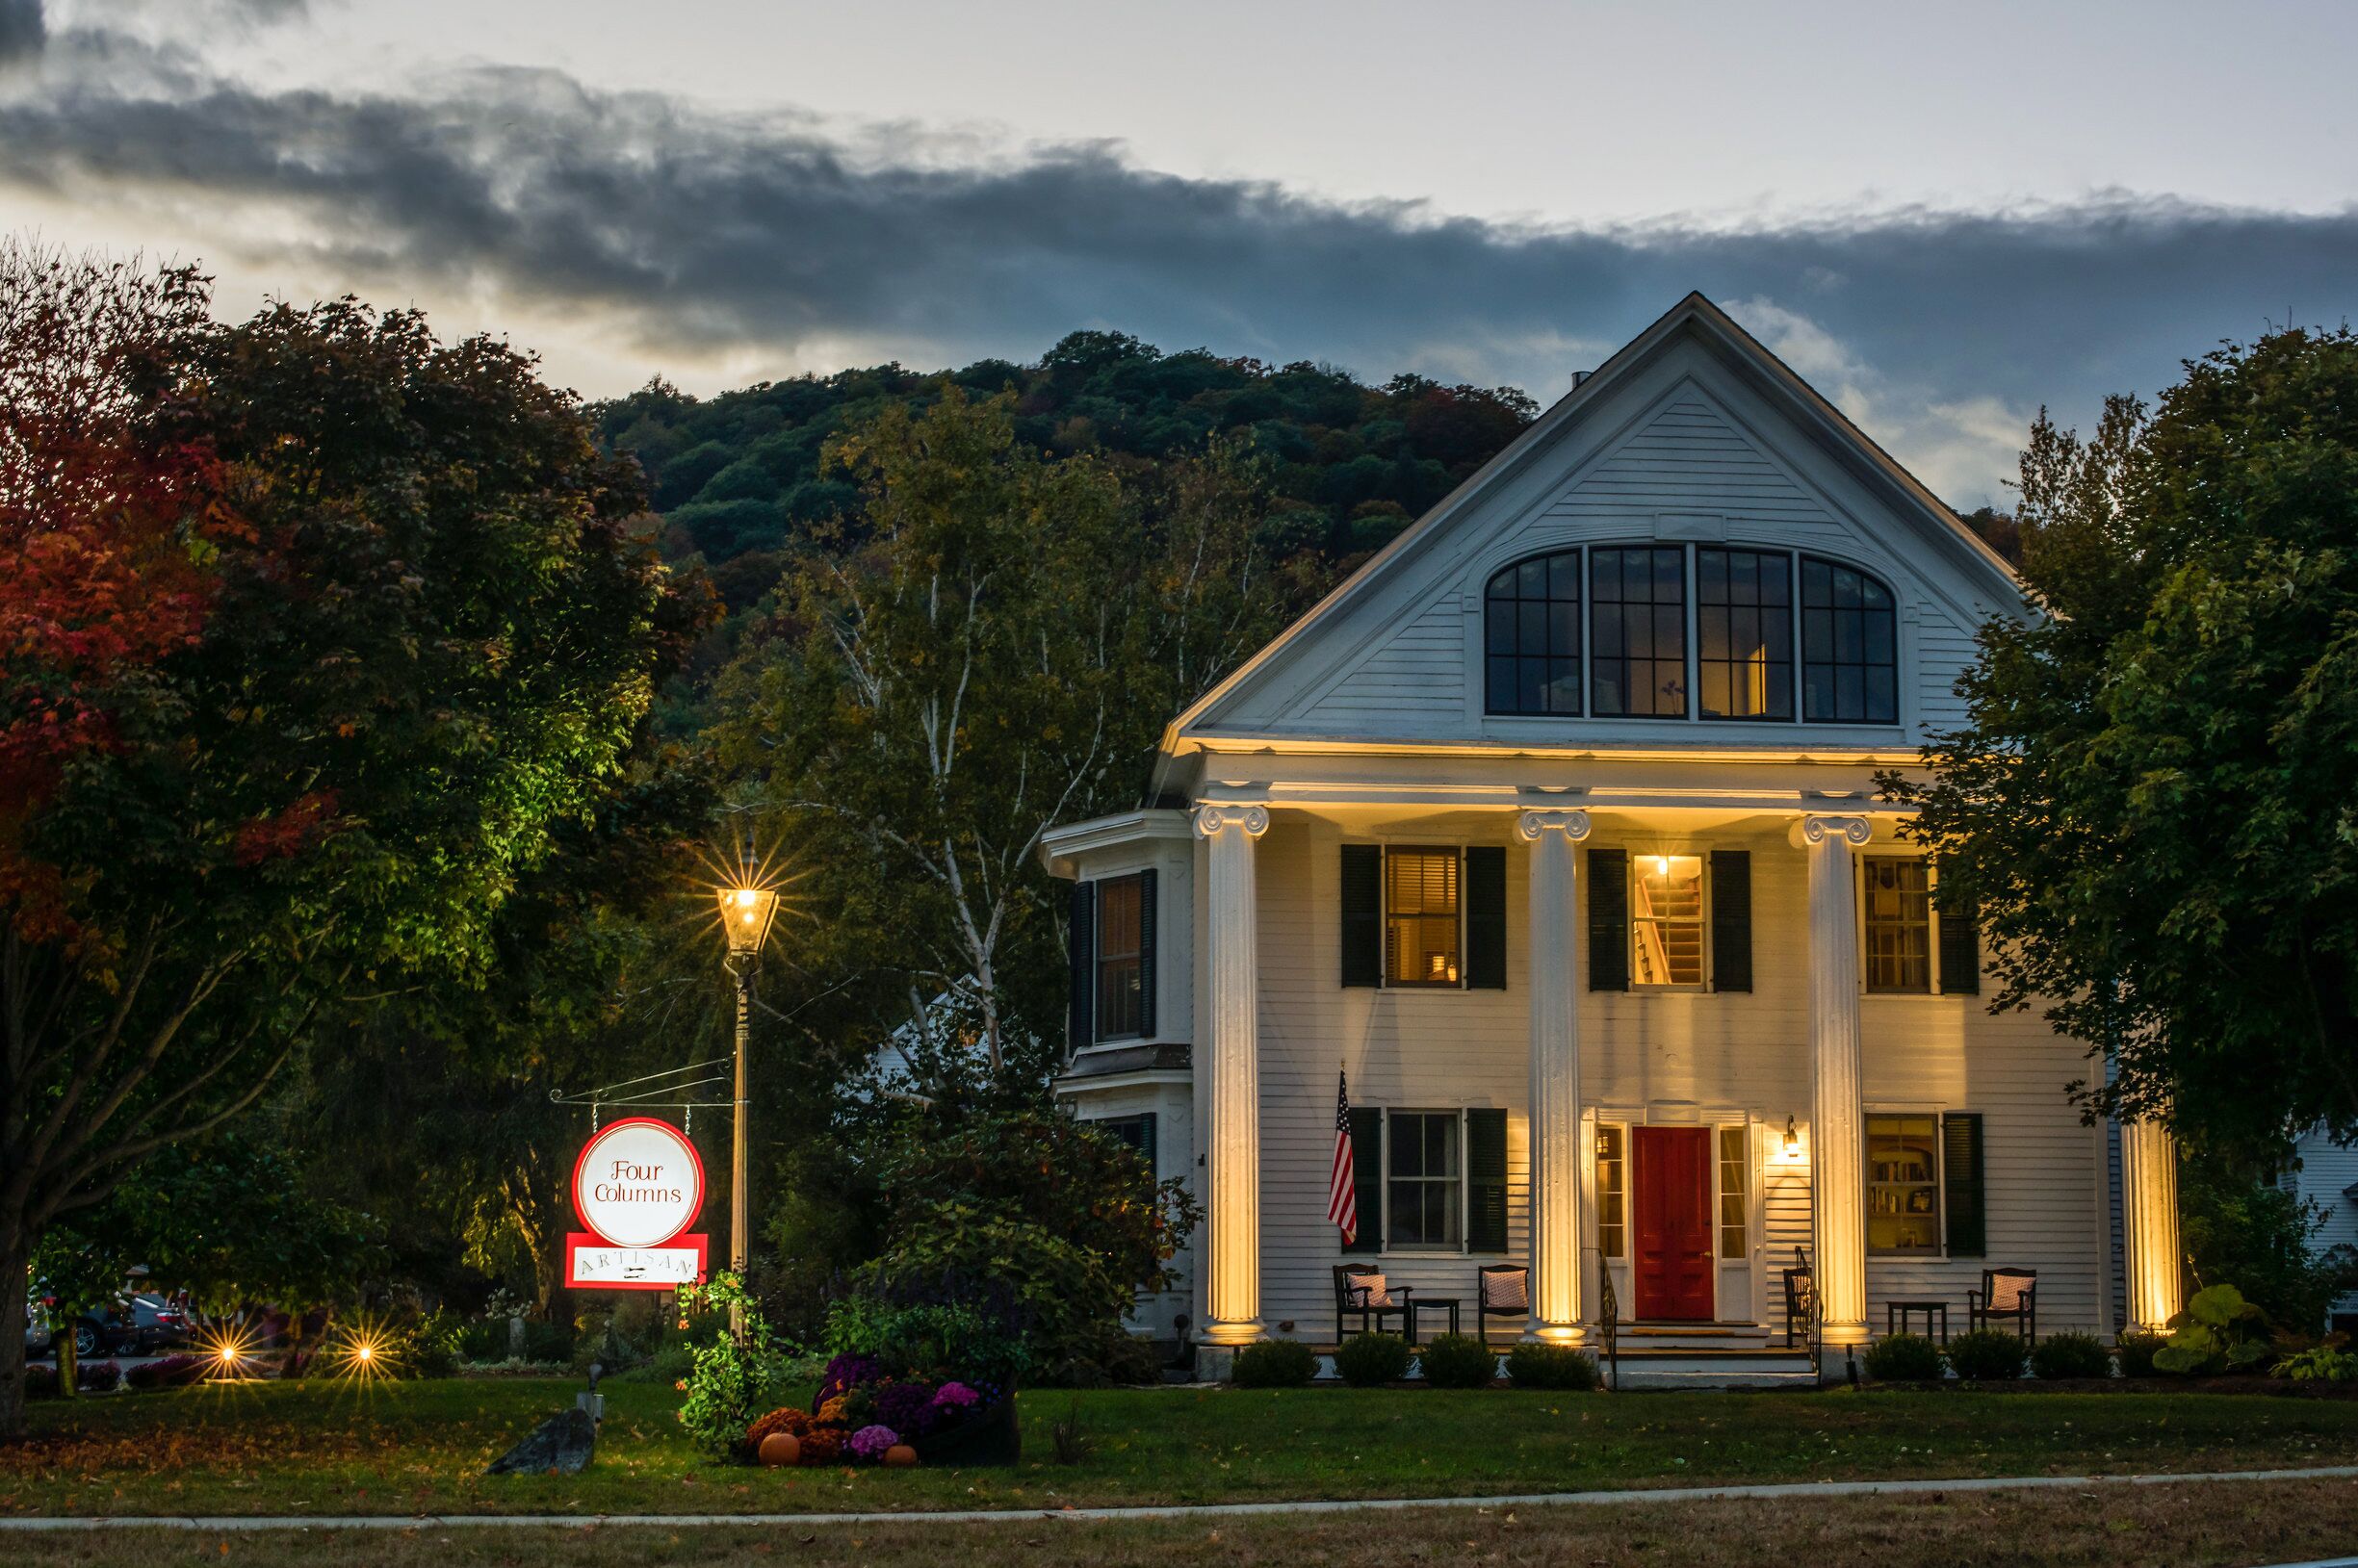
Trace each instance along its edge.
<path fill-rule="evenodd" d="M 1868 1339 L 1865 1106 L 1858 1075 L 1858 894 L 1863 816 L 1804 816 L 1809 846 L 1809 1186 L 1825 1344 Z"/>

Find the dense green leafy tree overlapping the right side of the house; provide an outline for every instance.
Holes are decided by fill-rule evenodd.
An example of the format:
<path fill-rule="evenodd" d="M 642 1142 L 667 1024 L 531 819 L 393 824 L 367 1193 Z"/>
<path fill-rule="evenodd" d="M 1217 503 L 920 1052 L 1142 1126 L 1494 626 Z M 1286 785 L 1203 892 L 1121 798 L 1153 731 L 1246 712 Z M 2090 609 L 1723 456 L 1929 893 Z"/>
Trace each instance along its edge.
<path fill-rule="evenodd" d="M 1929 778 L 1882 780 L 1995 1004 L 2108 1054 L 2092 1111 L 2358 1132 L 2358 337 L 2191 361 L 2084 443 L 2042 415 L 2018 521 L 2042 613 L 1983 630 Z"/>

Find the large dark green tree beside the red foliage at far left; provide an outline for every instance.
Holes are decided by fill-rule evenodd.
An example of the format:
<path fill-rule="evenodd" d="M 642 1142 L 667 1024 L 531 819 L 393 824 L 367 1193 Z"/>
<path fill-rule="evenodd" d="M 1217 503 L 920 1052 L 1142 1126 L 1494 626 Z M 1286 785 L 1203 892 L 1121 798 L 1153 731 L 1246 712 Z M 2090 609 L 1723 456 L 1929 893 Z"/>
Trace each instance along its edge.
<path fill-rule="evenodd" d="M 210 597 L 7 842 L 57 898 L 12 896 L 0 953 L 0 1280 L 318 1019 L 387 976 L 479 983 L 700 613 L 634 531 L 637 472 L 507 347 L 349 299 L 174 347 L 139 431 L 205 448 L 217 486 L 141 561 L 200 561 Z M 0 1434 L 21 1311 L 0 1292 Z"/>

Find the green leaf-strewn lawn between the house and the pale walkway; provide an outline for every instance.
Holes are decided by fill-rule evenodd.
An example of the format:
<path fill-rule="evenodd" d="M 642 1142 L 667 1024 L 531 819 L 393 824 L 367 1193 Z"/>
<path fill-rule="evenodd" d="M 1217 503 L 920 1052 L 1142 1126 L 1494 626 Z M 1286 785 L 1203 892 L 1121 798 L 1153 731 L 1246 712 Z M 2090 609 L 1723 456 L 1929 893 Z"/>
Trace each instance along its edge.
<path fill-rule="evenodd" d="M 486 1478 L 571 1379 L 196 1386 L 33 1408 L 0 1514 L 943 1509 L 1438 1497 L 1700 1481 L 2344 1464 L 2358 1401 L 2266 1394 L 1535 1394 L 1111 1389 L 1023 1396 L 1019 1469 L 712 1464 L 679 1394 L 608 1384 L 582 1476 Z M 1089 1452 L 1052 1460 L 1080 1412 Z"/>

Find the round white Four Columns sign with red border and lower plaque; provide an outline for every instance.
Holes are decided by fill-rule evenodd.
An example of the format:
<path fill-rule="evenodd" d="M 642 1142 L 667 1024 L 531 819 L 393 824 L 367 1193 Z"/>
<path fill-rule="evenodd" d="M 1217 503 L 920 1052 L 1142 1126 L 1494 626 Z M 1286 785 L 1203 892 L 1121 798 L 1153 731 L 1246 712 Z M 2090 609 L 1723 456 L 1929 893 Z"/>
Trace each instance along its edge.
<path fill-rule="evenodd" d="M 590 1290 L 670 1290 L 705 1273 L 705 1238 L 681 1236 L 705 1207 L 705 1162 L 679 1127 L 651 1115 L 608 1122 L 573 1160 L 566 1283 Z"/>

